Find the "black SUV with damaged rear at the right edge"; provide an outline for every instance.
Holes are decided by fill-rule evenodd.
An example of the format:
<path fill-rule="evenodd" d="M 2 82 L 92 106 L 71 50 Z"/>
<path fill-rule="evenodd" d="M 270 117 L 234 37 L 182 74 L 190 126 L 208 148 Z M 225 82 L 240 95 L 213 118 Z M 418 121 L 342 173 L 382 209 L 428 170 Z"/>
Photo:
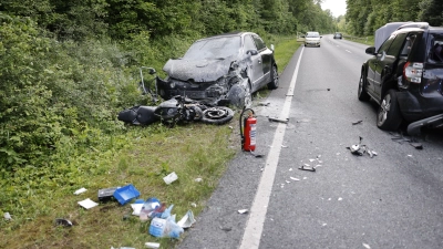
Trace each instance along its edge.
<path fill-rule="evenodd" d="M 377 38 L 375 38 L 377 39 Z M 443 125 L 443 28 L 425 22 L 399 27 L 363 63 L 358 90 L 360 101 L 379 105 L 377 126 L 398 129 L 411 123 L 408 133 L 424 125 Z"/>

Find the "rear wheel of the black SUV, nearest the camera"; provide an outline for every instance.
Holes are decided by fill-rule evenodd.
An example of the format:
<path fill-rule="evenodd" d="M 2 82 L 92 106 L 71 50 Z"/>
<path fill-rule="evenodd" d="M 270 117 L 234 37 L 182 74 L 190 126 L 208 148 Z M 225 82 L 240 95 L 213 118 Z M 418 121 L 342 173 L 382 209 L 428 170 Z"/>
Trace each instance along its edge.
<path fill-rule="evenodd" d="M 403 118 L 396 101 L 396 91 L 389 90 L 377 113 L 377 126 L 384 131 L 396 131 Z"/>

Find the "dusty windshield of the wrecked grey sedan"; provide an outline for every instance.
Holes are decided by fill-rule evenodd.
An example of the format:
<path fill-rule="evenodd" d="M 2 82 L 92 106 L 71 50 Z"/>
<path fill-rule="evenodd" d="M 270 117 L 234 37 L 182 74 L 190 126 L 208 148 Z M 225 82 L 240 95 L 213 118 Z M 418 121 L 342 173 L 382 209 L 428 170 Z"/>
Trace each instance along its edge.
<path fill-rule="evenodd" d="M 206 39 L 192 44 L 183 59 L 224 59 L 230 55 L 237 55 L 239 51 L 240 37 Z"/>

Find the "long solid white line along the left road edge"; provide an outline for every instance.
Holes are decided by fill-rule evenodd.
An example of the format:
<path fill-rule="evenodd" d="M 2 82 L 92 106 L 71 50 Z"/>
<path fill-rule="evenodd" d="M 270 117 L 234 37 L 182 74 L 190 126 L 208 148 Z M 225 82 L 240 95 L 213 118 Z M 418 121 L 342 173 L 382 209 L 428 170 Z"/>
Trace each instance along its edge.
<path fill-rule="evenodd" d="M 297 61 L 296 70 L 289 85 L 288 93 L 286 94 L 284 108 L 279 118 L 286 120 L 289 116 L 290 105 L 293 96 L 293 89 L 297 82 L 298 70 L 300 66 L 301 55 L 303 54 L 305 46 L 301 48 L 300 56 Z M 280 157 L 281 145 L 284 143 L 285 123 L 279 123 L 274 135 L 272 145 L 269 149 L 266 167 L 262 172 L 260 183 L 256 196 L 254 198 L 253 207 L 250 208 L 249 219 L 246 225 L 245 234 L 243 235 L 240 249 L 254 249 L 260 245 L 262 228 L 265 225 L 266 212 L 269 204 L 269 197 L 272 190 L 274 178 L 276 176 L 277 165 Z"/>

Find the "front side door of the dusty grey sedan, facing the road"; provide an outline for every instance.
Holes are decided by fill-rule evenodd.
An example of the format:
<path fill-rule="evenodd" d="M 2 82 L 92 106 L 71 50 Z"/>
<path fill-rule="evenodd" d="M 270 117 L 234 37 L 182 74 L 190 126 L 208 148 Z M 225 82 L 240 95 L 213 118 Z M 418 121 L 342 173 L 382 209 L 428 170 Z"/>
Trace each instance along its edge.
<path fill-rule="evenodd" d="M 257 51 L 257 54 L 251 54 L 250 55 L 250 63 L 248 66 L 248 76 L 251 83 L 251 91 L 255 92 L 257 90 L 256 85 L 257 82 L 260 81 L 262 77 L 262 59 L 260 53 L 257 50 L 256 43 L 254 42 L 254 39 L 250 34 L 245 35 L 245 41 L 244 41 L 244 52 L 245 54 L 248 51 Z"/>

